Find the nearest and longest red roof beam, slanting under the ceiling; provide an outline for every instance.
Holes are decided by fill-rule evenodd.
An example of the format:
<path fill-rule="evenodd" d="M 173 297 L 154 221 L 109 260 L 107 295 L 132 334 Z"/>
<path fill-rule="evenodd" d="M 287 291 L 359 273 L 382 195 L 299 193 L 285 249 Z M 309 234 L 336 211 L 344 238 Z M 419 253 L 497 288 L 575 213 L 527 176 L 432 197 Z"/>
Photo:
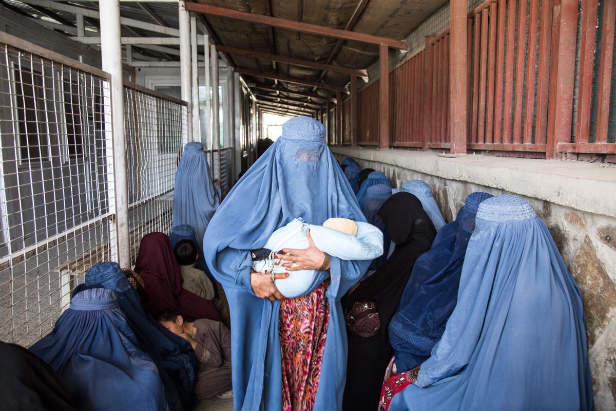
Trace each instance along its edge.
<path fill-rule="evenodd" d="M 326 26 L 319 26 L 316 24 L 296 22 L 294 20 L 286 20 L 285 18 L 246 13 L 239 10 L 225 9 L 224 7 L 208 6 L 207 4 L 194 2 L 187 2 L 186 9 L 192 12 L 233 18 L 235 20 L 243 20 L 250 23 L 259 23 L 278 28 L 284 28 L 286 30 L 301 31 L 302 33 L 310 33 L 318 36 L 327 36 L 351 41 L 359 41 L 361 43 L 368 44 L 383 44 L 384 46 L 392 47 L 394 49 L 408 50 L 408 44 L 405 41 L 367 35 L 365 33 L 357 33 L 356 31 L 347 31 L 341 30 L 339 28 L 331 28 Z"/>

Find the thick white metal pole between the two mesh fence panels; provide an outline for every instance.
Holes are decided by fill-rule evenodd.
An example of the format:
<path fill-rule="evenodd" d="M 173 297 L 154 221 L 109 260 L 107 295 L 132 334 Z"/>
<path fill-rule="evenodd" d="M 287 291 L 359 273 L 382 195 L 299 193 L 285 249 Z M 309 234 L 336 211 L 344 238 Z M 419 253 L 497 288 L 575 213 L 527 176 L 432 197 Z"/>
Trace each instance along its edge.
<path fill-rule="evenodd" d="M 120 1 L 99 2 L 100 53 L 102 69 L 111 75 L 111 130 L 113 131 L 113 174 L 117 221 L 118 262 L 131 266 L 131 243 L 128 227 L 128 179 L 124 142 L 124 87 L 122 85 L 122 45 L 120 44 Z"/>

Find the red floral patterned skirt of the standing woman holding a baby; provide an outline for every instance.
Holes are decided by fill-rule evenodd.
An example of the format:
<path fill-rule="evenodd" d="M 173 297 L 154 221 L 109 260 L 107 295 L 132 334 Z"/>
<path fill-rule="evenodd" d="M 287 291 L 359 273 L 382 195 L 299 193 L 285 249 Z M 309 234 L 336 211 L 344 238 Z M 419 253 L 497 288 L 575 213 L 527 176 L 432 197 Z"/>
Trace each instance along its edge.
<path fill-rule="evenodd" d="M 326 280 L 312 293 L 285 299 L 278 333 L 282 351 L 282 411 L 312 411 L 330 319 Z"/>

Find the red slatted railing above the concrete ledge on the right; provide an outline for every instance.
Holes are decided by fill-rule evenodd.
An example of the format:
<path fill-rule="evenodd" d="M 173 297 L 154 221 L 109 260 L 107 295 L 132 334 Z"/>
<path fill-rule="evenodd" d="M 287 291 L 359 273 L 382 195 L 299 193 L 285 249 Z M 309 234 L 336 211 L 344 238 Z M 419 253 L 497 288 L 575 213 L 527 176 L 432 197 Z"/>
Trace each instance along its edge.
<path fill-rule="evenodd" d="M 580 1 L 581 13 L 577 0 L 488 0 L 469 13 L 468 150 L 616 154 L 616 0 Z M 448 149 L 449 44 L 448 30 L 428 37 L 389 73 L 392 147 Z M 378 82 L 358 93 L 359 144 L 378 143 L 378 93 Z"/>

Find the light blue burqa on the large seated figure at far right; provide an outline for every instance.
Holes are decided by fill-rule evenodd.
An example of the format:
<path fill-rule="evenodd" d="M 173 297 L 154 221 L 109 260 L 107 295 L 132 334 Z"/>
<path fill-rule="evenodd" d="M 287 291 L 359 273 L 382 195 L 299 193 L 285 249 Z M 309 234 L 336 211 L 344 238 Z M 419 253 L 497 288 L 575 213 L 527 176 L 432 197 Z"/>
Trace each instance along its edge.
<path fill-rule="evenodd" d="M 585 328 L 543 221 L 522 198 L 488 198 L 445 333 L 390 410 L 591 410 Z"/>

